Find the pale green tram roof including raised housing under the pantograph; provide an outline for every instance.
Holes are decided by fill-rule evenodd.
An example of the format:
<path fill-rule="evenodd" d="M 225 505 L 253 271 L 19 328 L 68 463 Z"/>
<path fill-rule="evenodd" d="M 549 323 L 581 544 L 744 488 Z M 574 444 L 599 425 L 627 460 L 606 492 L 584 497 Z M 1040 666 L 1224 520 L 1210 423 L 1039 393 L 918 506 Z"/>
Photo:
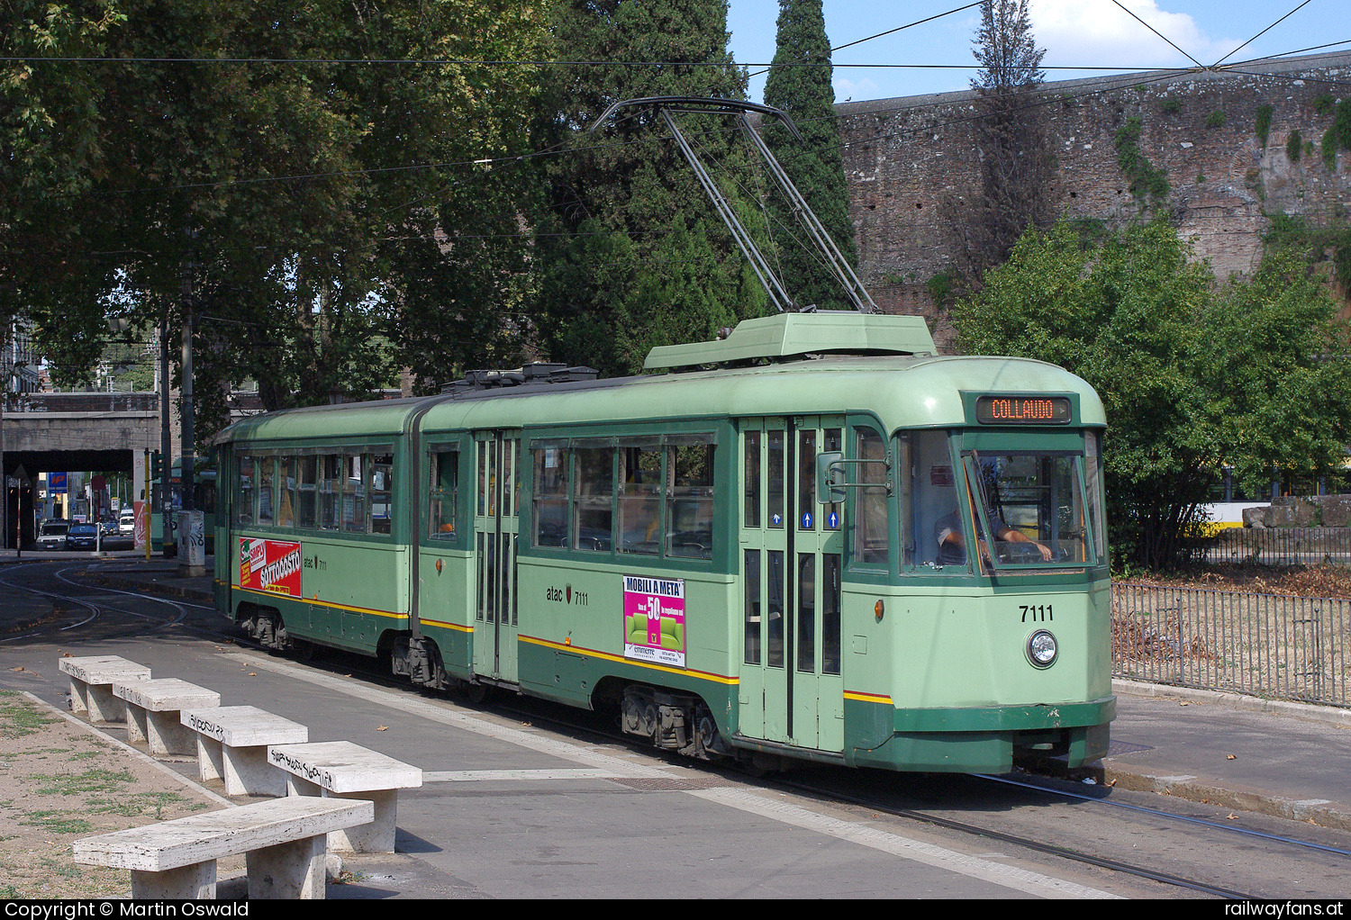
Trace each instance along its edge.
<path fill-rule="evenodd" d="M 935 357 L 923 320 L 913 316 L 743 320 L 717 342 L 654 349 L 647 366 L 676 373 L 288 409 L 236 421 L 218 442 L 393 438 L 422 412 L 424 431 L 844 412 L 877 415 L 894 431 L 963 424 L 963 393 L 1075 393 L 1081 423 L 1105 424 L 1101 401 L 1079 377 L 1028 358 Z"/>

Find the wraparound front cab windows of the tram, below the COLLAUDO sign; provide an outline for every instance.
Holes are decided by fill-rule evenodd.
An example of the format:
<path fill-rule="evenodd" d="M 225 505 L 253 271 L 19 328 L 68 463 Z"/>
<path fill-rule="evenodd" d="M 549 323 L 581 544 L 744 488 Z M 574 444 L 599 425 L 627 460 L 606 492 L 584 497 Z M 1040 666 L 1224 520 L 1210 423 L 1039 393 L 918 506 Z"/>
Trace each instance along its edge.
<path fill-rule="evenodd" d="M 969 450 L 954 465 L 944 436 L 916 436 L 909 567 L 1102 563 L 1097 435 L 1085 443 L 1084 451 Z"/>

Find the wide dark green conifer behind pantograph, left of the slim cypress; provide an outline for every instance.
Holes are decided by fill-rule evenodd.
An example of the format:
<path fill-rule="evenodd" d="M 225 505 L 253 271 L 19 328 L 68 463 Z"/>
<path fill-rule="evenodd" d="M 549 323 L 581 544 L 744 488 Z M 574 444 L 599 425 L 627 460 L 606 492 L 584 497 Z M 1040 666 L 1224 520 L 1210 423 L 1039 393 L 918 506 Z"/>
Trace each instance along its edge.
<path fill-rule="evenodd" d="M 549 357 L 608 374 L 642 367 L 654 344 L 711 338 L 763 311 L 765 295 L 665 123 L 615 101 L 744 99 L 727 53 L 724 0 L 567 0 L 554 23 L 567 57 L 551 69 L 535 213 L 538 326 Z M 719 115 L 676 116 L 723 193 L 751 223 L 744 151 Z M 740 182 L 740 185 L 739 185 Z"/>

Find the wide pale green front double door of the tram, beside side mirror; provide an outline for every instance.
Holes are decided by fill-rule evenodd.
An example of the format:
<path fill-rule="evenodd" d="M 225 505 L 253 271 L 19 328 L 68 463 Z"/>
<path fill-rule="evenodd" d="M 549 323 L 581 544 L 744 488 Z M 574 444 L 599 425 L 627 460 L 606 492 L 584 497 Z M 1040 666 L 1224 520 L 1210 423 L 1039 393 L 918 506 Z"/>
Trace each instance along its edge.
<path fill-rule="evenodd" d="M 740 431 L 740 734 L 844 750 L 839 505 L 816 501 L 816 454 L 843 419 L 748 420 Z"/>

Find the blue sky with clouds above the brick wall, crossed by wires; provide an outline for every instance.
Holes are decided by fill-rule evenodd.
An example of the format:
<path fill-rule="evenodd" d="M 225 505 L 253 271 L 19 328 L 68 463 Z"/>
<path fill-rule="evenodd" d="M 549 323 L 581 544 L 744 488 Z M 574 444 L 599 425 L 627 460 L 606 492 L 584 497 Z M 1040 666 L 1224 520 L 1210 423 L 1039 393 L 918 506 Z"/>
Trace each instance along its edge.
<path fill-rule="evenodd" d="M 824 0 L 831 47 L 870 39 L 834 53 L 835 101 L 969 89 L 979 7 L 942 15 L 967 3 Z M 1046 49 L 1047 81 L 1315 54 L 1312 49 L 1333 42 L 1340 45 L 1325 50 L 1351 51 L 1351 0 L 1031 0 L 1029 9 L 1032 34 Z M 931 16 L 940 18 L 911 26 Z M 730 0 L 730 47 L 751 73 L 757 103 L 765 74 L 755 65 L 774 58 L 777 19 L 778 0 Z M 911 27 L 870 38 L 902 26 Z"/>

